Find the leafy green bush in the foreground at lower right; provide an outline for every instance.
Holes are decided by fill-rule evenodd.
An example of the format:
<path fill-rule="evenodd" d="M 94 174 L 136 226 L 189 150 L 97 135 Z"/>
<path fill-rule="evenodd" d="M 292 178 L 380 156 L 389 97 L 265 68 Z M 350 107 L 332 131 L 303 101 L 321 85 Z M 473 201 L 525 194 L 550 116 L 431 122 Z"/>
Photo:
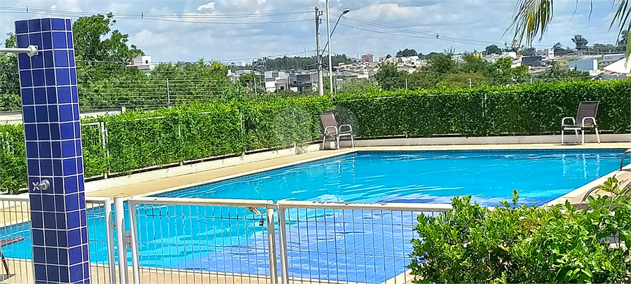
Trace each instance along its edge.
<path fill-rule="evenodd" d="M 603 189 L 583 210 L 517 206 L 516 192 L 495 210 L 453 198 L 444 215 L 418 217 L 415 282 L 629 283 L 630 191 L 616 177 Z"/>

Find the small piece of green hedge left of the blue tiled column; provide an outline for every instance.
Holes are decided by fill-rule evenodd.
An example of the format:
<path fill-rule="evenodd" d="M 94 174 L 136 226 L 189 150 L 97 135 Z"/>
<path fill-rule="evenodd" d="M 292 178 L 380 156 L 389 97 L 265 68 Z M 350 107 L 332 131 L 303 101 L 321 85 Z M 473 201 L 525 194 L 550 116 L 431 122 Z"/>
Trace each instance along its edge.
<path fill-rule="evenodd" d="M 0 191 L 18 194 L 27 185 L 24 128 L 0 125 Z"/>

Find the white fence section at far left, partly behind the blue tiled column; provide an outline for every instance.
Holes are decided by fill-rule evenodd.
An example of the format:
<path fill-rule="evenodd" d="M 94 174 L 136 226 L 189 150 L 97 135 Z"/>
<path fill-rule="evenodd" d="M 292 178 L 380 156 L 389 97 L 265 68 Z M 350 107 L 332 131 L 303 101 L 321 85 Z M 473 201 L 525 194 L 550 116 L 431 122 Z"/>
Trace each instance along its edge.
<path fill-rule="evenodd" d="M 34 245 L 55 246 L 39 243 L 43 238 L 32 236 L 39 232 L 33 233 L 31 229 L 29 203 L 29 196 L 25 195 L 0 197 L 0 241 L 6 244 L 0 248 L 4 256 L 0 264 L 1 283 L 34 283 Z M 86 208 L 92 282 L 116 283 L 116 259 L 110 249 L 114 248 L 111 199 L 86 197 Z"/>

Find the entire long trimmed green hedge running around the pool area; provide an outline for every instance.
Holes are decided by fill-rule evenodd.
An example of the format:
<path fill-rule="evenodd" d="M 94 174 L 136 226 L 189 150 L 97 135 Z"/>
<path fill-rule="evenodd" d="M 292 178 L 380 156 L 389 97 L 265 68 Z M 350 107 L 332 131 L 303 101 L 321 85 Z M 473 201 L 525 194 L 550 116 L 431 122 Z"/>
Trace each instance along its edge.
<path fill-rule="evenodd" d="M 320 138 L 318 114 L 333 110 L 360 137 L 558 133 L 578 102 L 600 100 L 600 130 L 629 128 L 628 81 L 555 82 L 216 102 L 84 121 L 86 176 L 129 173 L 210 156 L 287 147 Z M 107 128 L 102 144 L 101 126 Z M 26 187 L 22 126 L 0 126 L 2 191 Z"/>

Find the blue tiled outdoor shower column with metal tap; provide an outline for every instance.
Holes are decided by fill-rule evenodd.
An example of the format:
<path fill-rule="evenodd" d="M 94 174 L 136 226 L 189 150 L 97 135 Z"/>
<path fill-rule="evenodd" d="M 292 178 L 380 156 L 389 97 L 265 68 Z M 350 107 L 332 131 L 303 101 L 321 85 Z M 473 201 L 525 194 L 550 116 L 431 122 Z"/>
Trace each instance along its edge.
<path fill-rule="evenodd" d="M 36 283 L 89 283 L 86 198 L 72 23 L 15 22 Z"/>

